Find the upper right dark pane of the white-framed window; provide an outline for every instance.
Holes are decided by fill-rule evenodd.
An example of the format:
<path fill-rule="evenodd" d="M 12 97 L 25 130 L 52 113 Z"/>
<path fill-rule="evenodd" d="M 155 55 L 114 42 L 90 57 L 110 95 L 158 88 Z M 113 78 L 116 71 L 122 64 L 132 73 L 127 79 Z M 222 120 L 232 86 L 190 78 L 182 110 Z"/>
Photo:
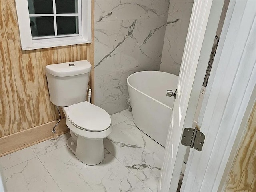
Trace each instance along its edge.
<path fill-rule="evenodd" d="M 78 13 L 78 0 L 55 0 L 56 13 Z"/>

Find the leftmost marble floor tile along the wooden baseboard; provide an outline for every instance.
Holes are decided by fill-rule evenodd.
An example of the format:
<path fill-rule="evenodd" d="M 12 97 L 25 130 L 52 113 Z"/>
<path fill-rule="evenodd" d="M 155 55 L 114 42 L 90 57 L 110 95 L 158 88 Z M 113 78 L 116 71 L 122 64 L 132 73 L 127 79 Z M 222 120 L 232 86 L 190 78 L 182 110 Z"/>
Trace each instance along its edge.
<path fill-rule="evenodd" d="M 30 147 L 24 148 L 22 150 L 2 156 L 0 158 L 0 166 L 2 170 L 6 170 L 12 166 L 18 165 L 35 157 L 36 154 Z"/>

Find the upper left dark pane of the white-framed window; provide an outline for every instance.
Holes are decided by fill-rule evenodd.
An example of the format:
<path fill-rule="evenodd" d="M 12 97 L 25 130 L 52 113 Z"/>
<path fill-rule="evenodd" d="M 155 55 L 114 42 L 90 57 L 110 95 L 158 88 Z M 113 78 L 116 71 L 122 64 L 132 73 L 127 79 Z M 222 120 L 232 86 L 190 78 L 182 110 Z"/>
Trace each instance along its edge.
<path fill-rule="evenodd" d="M 52 0 L 28 0 L 29 14 L 53 13 Z"/>

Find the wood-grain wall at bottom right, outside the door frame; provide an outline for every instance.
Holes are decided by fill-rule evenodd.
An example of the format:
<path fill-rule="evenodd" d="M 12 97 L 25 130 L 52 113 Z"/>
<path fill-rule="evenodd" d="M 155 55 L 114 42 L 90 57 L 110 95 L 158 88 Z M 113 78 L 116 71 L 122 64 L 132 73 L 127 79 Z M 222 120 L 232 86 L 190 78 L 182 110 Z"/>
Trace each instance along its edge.
<path fill-rule="evenodd" d="M 256 192 L 256 103 L 233 162 L 226 192 Z"/>

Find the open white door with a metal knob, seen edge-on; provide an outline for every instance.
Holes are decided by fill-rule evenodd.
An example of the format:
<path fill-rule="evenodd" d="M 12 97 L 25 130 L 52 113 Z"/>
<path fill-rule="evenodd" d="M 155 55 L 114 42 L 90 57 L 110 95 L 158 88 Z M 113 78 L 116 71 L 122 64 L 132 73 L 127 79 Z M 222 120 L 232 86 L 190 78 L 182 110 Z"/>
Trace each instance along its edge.
<path fill-rule="evenodd" d="M 192 128 L 223 3 L 224 0 L 194 0 L 158 192 L 177 190 L 186 152 L 186 146 L 180 143 L 181 135 L 184 128 Z"/>

